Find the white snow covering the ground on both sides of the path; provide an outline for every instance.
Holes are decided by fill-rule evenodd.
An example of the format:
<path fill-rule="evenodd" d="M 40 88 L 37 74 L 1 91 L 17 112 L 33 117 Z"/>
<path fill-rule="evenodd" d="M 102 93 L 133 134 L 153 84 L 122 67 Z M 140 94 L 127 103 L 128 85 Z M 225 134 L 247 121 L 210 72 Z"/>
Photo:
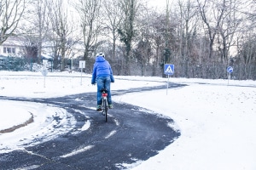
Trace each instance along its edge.
<path fill-rule="evenodd" d="M 49 72 L 45 79 L 40 72 L 0 71 L 0 76 L 0 96 L 49 98 L 96 92 L 96 87 L 90 85 L 91 76 L 79 72 Z M 161 77 L 116 76 L 112 90 L 166 85 L 166 81 Z M 158 155 L 125 166 L 132 170 L 256 169 L 256 82 L 172 77 L 169 81 L 187 86 L 113 96 L 115 102 L 139 105 L 171 117 L 175 123 L 170 126 L 181 133 Z M 45 122 L 52 112 L 62 117 L 68 115 L 64 109 L 51 105 L 1 99 L 0 105 L 0 131 L 26 121 L 31 113 L 35 115 L 35 122 L 26 127 L 0 133 L 0 153 L 4 147 L 20 149 L 20 139 L 31 129 L 34 136 L 43 132 L 49 133 L 48 139 L 54 138 L 56 133 L 43 128 L 50 128 Z M 71 130 L 74 120 L 62 120 L 61 126 Z M 84 122 L 81 131 L 88 127 L 90 122 Z"/>

